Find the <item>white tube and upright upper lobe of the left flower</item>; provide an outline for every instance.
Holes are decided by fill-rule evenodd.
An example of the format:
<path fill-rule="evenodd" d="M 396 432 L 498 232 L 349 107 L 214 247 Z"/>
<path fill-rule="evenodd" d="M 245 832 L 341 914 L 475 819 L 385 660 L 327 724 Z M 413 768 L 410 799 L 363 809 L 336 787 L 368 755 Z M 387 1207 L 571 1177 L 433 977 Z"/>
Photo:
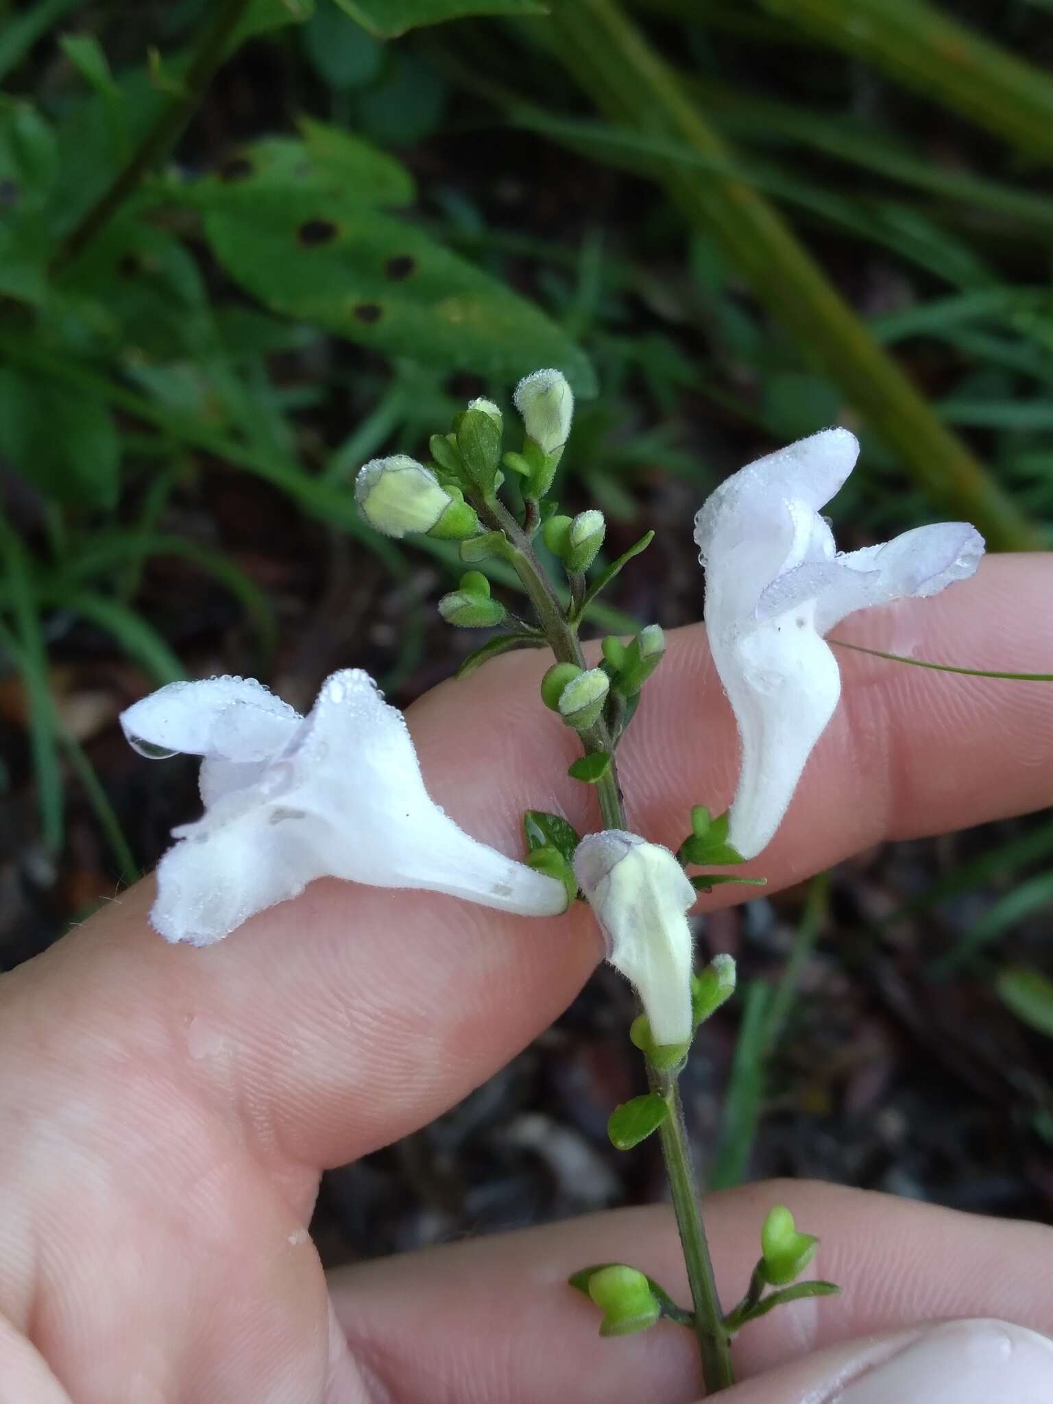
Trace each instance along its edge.
<path fill-rule="evenodd" d="M 378 887 L 425 887 L 522 915 L 556 915 L 563 885 L 470 838 L 424 788 L 402 712 L 368 673 L 327 678 L 281 761 L 284 806 L 326 820 L 324 870 Z"/>

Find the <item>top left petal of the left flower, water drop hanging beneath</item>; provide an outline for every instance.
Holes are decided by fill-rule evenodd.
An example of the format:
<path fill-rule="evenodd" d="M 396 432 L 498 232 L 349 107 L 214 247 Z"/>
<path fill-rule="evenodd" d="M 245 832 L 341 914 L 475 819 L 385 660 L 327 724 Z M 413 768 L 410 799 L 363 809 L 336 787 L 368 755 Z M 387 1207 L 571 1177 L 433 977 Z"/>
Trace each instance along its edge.
<path fill-rule="evenodd" d="M 288 744 L 299 713 L 256 678 L 170 682 L 121 713 L 129 743 L 143 754 L 264 761 Z M 136 743 L 139 743 L 136 746 Z"/>

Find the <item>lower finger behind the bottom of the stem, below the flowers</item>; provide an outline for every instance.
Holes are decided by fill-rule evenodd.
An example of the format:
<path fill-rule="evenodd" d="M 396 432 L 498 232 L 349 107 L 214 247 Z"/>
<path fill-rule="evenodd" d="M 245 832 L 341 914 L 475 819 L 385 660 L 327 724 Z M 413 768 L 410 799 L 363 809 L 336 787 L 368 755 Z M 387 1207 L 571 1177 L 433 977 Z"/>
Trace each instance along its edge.
<path fill-rule="evenodd" d="M 724 1310 L 746 1290 L 772 1203 L 788 1205 L 802 1228 L 820 1234 L 809 1276 L 837 1282 L 844 1293 L 782 1306 L 747 1325 L 733 1352 L 740 1379 L 868 1334 L 946 1317 L 998 1317 L 1043 1335 L 1053 1331 L 1049 1228 L 807 1182 L 751 1185 L 706 1199 Z M 388 1258 L 336 1273 L 331 1286 L 352 1355 L 368 1360 L 402 1404 L 696 1398 L 691 1332 L 661 1323 L 643 1335 L 602 1339 L 597 1309 L 567 1286 L 571 1272 L 612 1261 L 640 1268 L 678 1302 L 689 1300 L 667 1207 Z M 762 1391 L 747 1398 L 768 1404 Z"/>

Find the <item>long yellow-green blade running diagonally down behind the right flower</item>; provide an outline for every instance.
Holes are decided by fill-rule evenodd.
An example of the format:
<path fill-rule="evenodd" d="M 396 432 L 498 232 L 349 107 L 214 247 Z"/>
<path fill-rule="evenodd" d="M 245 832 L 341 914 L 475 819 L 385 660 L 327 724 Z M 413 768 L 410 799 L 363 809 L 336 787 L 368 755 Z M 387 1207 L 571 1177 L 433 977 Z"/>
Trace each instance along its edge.
<path fill-rule="evenodd" d="M 548 29 L 532 25 L 529 32 L 615 121 L 680 136 L 706 159 L 730 159 L 675 74 L 614 0 L 564 0 L 545 24 Z M 1038 545 L 1015 503 L 939 423 L 748 181 L 670 168 L 664 184 L 692 223 L 713 232 L 761 302 L 841 385 L 935 503 L 976 522 L 997 548 Z"/>

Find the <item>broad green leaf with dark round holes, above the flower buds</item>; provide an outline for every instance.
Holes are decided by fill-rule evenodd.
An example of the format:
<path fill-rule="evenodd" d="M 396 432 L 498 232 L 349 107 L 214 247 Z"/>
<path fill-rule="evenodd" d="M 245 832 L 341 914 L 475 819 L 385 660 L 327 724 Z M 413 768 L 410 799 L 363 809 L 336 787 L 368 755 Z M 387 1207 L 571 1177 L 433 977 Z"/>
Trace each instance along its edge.
<path fill-rule="evenodd" d="M 595 393 L 588 358 L 555 323 L 494 278 L 350 199 L 289 191 L 205 216 L 212 251 L 268 307 L 396 357 L 515 379 L 563 369 Z"/>

